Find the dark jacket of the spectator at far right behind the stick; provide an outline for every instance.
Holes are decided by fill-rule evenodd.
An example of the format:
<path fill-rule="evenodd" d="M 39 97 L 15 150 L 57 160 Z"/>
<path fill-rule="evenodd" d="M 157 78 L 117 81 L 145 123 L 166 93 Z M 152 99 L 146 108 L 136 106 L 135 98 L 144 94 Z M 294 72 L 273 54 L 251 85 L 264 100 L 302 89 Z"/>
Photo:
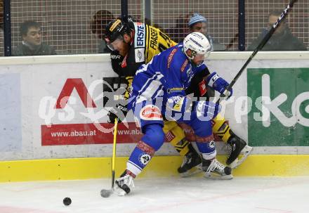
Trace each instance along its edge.
<path fill-rule="evenodd" d="M 247 50 L 253 51 L 256 49 L 267 32 L 267 29 L 263 29 L 261 35 L 252 42 Z M 299 40 L 297 37 L 294 37 L 289 28 L 286 28 L 281 33 L 272 34 L 272 37 L 270 37 L 262 51 L 307 51 L 307 48 L 301 40 Z"/>

